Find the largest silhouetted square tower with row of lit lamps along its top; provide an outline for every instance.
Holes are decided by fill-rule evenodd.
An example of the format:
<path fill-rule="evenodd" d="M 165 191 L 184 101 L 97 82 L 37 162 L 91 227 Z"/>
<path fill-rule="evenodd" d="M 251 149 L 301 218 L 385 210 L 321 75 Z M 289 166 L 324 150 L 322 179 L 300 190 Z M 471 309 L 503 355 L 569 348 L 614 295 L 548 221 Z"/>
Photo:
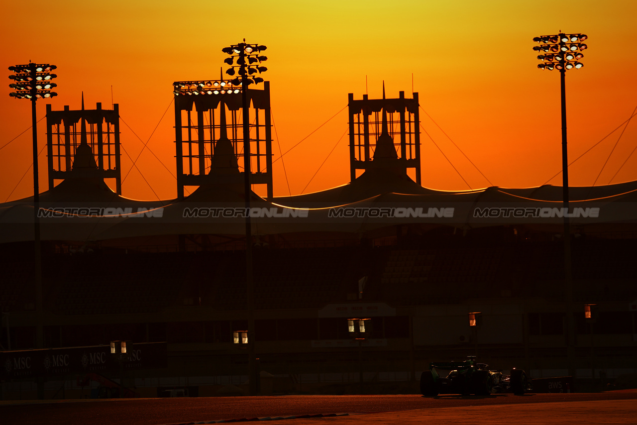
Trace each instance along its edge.
<path fill-rule="evenodd" d="M 185 186 L 243 185 L 241 85 L 232 80 L 173 83 L 177 198 Z M 250 104 L 250 184 L 273 197 L 270 85 L 247 89 Z M 234 155 L 232 155 L 234 154 Z"/>

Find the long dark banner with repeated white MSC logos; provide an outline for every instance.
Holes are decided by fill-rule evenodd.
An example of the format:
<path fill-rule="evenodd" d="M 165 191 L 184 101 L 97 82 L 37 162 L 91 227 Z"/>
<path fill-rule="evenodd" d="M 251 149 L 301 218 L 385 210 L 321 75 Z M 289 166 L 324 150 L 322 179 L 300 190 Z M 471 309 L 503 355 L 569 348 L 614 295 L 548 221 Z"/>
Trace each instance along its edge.
<path fill-rule="evenodd" d="M 128 356 L 122 359 L 127 370 L 161 369 L 168 366 L 165 342 L 133 344 Z M 119 357 L 111 354 L 110 345 L 62 349 L 0 352 L 0 380 L 71 375 L 120 367 Z"/>

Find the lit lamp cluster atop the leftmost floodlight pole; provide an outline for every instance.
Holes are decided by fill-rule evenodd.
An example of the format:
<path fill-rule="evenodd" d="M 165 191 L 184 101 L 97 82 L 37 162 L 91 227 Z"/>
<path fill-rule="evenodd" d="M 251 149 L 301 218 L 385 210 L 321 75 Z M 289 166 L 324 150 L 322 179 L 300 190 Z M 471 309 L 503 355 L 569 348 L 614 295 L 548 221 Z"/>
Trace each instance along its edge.
<path fill-rule="evenodd" d="M 13 74 L 9 76 L 13 82 L 9 85 L 15 90 L 9 96 L 16 99 L 41 99 L 43 97 L 54 97 L 57 93 L 50 91 L 57 84 L 51 82 L 57 75 L 51 71 L 57 66 L 50 64 L 32 64 L 10 66 L 9 71 Z"/>

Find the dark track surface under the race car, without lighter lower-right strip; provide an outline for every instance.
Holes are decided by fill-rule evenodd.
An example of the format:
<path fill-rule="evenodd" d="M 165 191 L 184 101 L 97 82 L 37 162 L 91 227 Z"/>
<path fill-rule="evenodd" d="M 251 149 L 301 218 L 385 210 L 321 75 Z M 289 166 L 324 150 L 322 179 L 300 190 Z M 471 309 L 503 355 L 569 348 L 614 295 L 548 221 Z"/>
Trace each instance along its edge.
<path fill-rule="evenodd" d="M 219 419 L 243 419 L 312 414 L 374 414 L 417 409 L 447 409 L 480 407 L 489 409 L 497 405 L 527 405 L 529 403 L 575 403 L 585 406 L 595 401 L 637 400 L 637 392 L 525 394 L 515 396 L 454 396 L 424 398 L 420 395 L 390 396 L 278 396 L 278 397 L 214 397 L 214 398 L 152 398 L 111 400 L 61 400 L 61 401 L 3 401 L 0 402 L 0 422 L 3 424 L 118 424 L 159 425 L 183 422 L 203 422 Z M 629 405 L 637 406 L 637 401 Z M 542 405 L 545 408 L 546 405 Z M 555 405 L 557 407 L 558 405 Z M 539 406 L 538 406 L 539 407 Z M 387 416 L 387 414 L 384 414 Z M 380 415 L 379 415 L 380 416 Z M 369 415 L 368 417 L 374 417 Z M 354 419 L 354 417 L 350 417 Z M 359 417 L 362 419 L 362 417 Z M 379 417 L 380 419 L 380 417 Z M 589 418 L 591 419 L 591 418 Z M 333 418 L 341 424 L 350 420 Z M 305 421 L 291 419 L 281 423 Z M 316 421 L 316 419 L 314 420 Z M 357 421 L 359 422 L 359 421 Z M 315 424 L 316 422 L 310 422 Z M 520 422 L 522 423 L 522 422 Z M 529 422 L 525 422 L 529 423 Z M 588 422 L 587 422 L 588 423 Z M 309 424 L 308 424 L 309 425 Z"/>

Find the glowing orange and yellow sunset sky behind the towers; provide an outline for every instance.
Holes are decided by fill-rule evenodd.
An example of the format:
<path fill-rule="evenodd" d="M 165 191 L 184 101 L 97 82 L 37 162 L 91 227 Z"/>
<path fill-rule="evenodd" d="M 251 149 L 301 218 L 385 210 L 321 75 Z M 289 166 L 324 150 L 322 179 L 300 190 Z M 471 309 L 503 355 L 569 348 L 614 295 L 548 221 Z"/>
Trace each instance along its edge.
<path fill-rule="evenodd" d="M 110 109 L 111 99 L 118 103 L 127 154 L 138 157 L 142 141 L 150 138 L 136 164 L 152 190 L 122 152 L 123 195 L 171 199 L 175 178 L 149 150 L 175 173 L 172 83 L 218 78 L 227 57 L 221 49 L 243 38 L 268 46 L 262 76 L 271 82 L 275 159 L 279 146 L 287 151 L 346 106 L 348 93 L 355 99 L 366 92 L 380 97 L 384 80 L 387 97 L 397 97 L 399 90 L 411 97 L 413 75 L 424 129 L 476 189 L 490 184 L 427 114 L 493 185 L 547 183 L 561 169 L 559 72 L 536 68 L 533 37 L 582 32 L 589 36 L 584 67 L 566 73 L 569 160 L 619 129 L 569 168 L 570 184 L 637 180 L 637 152 L 629 157 L 637 146 L 637 117 L 622 126 L 637 107 L 634 0 L 30 4 L 29 10 L 19 2 L 0 6 L 6 83 L 0 96 L 0 202 L 32 194 L 31 105 L 9 96 L 8 66 L 57 65 L 58 96 L 38 101 L 38 119 L 45 117 L 46 103 L 54 110 L 79 109 L 82 91 L 87 109 L 96 102 Z M 38 11 L 34 20 L 31 11 Z M 46 143 L 45 122 L 38 125 L 39 148 Z M 276 161 L 275 196 L 347 183 L 347 134 L 339 142 L 346 131 L 347 109 L 283 157 L 287 180 L 282 161 Z M 421 141 L 422 184 L 469 189 L 424 132 Z M 43 150 L 41 191 L 47 189 L 46 164 Z M 561 175 L 549 183 L 561 185 Z"/>

